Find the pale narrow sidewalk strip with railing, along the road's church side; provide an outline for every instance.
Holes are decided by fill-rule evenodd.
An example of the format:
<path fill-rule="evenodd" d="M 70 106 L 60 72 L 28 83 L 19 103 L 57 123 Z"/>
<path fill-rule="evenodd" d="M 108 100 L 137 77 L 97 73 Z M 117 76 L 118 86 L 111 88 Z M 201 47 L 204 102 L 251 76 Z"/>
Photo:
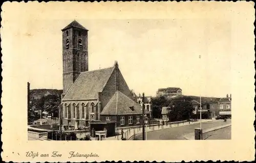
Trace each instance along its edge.
<path fill-rule="evenodd" d="M 202 120 L 203 122 L 211 122 L 211 119 L 207 119 L 207 120 Z M 190 122 L 190 124 L 196 124 L 196 123 L 200 123 L 200 120 L 196 121 L 196 122 Z M 167 129 L 167 128 L 173 128 L 173 127 L 179 127 L 179 126 L 185 126 L 185 125 L 190 125 L 189 122 L 184 122 L 184 123 L 178 123 L 178 124 L 171 124 L 169 123 L 168 125 L 160 125 L 160 127 L 158 127 L 158 125 L 156 126 L 147 126 L 145 128 L 145 131 L 147 130 L 147 132 L 151 132 L 151 131 L 156 131 L 156 130 L 161 130 L 161 129 Z M 123 129 L 123 137 L 126 138 L 126 140 L 132 140 L 133 139 L 133 135 L 136 134 L 140 134 L 142 133 L 142 128 L 133 128 L 133 129 Z M 108 137 L 106 138 L 106 140 L 121 140 L 121 135 L 117 135 L 116 137 Z"/>

